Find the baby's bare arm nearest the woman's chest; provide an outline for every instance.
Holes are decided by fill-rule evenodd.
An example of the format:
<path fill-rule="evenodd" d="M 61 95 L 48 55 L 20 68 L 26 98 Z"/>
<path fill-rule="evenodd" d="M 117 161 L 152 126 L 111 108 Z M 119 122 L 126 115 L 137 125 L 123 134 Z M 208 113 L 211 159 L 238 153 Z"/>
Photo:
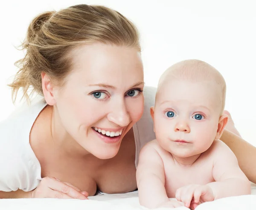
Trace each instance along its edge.
<path fill-rule="evenodd" d="M 155 208 L 169 201 L 165 189 L 163 161 L 157 152 L 157 142 L 149 142 L 140 151 L 136 178 L 140 204 Z"/>

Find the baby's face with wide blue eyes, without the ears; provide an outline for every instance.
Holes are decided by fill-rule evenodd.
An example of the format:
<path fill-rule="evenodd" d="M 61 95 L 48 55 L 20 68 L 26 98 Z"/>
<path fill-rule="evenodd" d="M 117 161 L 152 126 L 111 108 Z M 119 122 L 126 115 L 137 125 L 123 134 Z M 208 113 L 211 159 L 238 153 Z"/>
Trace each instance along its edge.
<path fill-rule="evenodd" d="M 154 110 L 157 141 L 178 157 L 203 153 L 215 139 L 220 111 L 221 90 L 214 82 L 166 81 Z"/>

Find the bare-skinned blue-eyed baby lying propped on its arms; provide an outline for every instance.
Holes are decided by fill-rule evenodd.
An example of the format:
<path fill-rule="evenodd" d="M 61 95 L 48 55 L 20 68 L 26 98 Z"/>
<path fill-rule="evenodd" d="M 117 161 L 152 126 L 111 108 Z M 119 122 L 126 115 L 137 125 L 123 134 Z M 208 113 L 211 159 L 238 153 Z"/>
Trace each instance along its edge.
<path fill-rule="evenodd" d="M 225 95 L 224 78 L 200 60 L 178 62 L 161 76 L 150 110 L 156 139 L 142 148 L 137 167 L 141 205 L 195 209 L 250 194 L 236 156 L 219 140 L 228 121 Z"/>

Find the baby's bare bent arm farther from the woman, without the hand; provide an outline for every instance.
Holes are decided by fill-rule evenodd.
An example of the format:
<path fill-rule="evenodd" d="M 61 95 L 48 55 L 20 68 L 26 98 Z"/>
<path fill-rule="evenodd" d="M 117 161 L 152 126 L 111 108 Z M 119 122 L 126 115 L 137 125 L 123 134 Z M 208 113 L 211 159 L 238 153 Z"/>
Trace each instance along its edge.
<path fill-rule="evenodd" d="M 250 194 L 250 182 L 239 168 L 236 156 L 223 142 L 215 143 L 211 187 L 214 199 Z"/>

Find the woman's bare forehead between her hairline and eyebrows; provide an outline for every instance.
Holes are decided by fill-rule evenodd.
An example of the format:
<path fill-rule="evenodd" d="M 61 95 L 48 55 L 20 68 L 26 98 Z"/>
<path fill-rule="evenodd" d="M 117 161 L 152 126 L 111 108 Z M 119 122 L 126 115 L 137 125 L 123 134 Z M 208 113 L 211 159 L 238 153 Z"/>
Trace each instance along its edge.
<path fill-rule="evenodd" d="M 69 76 L 77 82 L 143 82 L 143 64 L 136 48 L 96 43 L 81 46 L 72 56 L 73 65 Z"/>

